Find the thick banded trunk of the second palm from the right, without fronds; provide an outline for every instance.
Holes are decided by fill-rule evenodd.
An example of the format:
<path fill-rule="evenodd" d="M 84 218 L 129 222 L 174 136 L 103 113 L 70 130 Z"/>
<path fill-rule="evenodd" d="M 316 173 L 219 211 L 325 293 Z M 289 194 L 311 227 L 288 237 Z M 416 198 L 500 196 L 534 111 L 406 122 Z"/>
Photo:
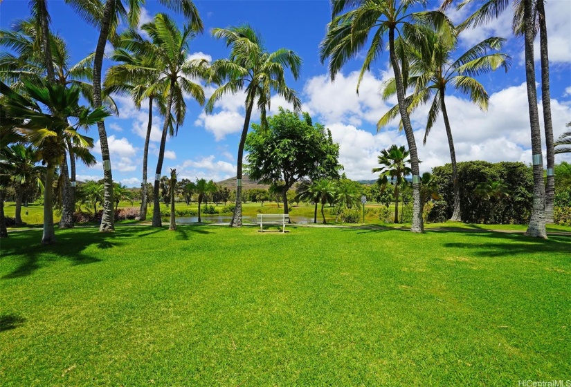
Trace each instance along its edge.
<path fill-rule="evenodd" d="M 529 124 L 532 132 L 532 154 L 534 160 L 534 202 L 532 216 L 525 235 L 547 239 L 545 232 L 545 183 L 543 182 L 543 157 L 541 154 L 541 130 L 537 110 L 537 91 L 535 87 L 534 67 L 534 17 L 533 1 L 523 0 L 525 23 L 525 80 L 527 82 L 527 105 L 529 107 Z"/>

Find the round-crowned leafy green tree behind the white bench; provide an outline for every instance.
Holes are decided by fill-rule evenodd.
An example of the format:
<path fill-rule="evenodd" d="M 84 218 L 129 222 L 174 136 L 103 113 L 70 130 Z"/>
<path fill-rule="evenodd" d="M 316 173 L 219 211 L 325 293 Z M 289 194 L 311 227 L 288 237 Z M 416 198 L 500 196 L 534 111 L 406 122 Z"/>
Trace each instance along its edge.
<path fill-rule="evenodd" d="M 246 138 L 248 176 L 275 187 L 287 215 L 287 191 L 296 182 L 316 175 L 324 160 L 334 160 L 333 169 L 341 169 L 337 162 L 339 146 L 327 136 L 323 125 L 311 122 L 307 113 L 302 119 L 280 107 L 280 113 L 267 121 L 266 129 L 253 124 Z"/>

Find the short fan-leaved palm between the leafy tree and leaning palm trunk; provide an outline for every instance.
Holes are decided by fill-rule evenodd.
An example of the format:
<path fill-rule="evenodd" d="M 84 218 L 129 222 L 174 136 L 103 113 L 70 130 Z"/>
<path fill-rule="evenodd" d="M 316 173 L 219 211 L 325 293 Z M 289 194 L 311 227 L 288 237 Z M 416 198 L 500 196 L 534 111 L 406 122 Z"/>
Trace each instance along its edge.
<path fill-rule="evenodd" d="M 399 187 L 406 182 L 405 176 L 410 175 L 413 171 L 407 165 L 410 164 L 409 156 L 410 152 L 404 148 L 404 145 L 401 147 L 392 145 L 389 149 L 383 149 L 378 157 L 379 164 L 383 167 L 372 169 L 373 173 L 381 173 L 377 180 L 377 184 L 381 187 L 381 193 L 387 188 L 389 179 L 395 187 L 395 223 L 399 223 Z"/>

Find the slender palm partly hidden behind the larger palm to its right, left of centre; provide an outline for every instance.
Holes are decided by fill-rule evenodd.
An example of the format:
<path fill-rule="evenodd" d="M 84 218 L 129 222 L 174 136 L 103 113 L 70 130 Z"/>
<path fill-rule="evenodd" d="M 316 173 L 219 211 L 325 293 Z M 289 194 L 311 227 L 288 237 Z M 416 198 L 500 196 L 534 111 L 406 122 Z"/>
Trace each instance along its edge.
<path fill-rule="evenodd" d="M 107 93 L 129 94 L 135 103 L 136 108 L 140 109 L 145 98 L 149 100 L 149 118 L 147 121 L 147 133 L 145 135 L 145 147 L 143 148 L 143 182 L 141 182 L 141 209 L 139 209 L 139 219 L 147 218 L 147 202 L 148 202 L 148 185 L 147 185 L 147 160 L 149 155 L 149 140 L 151 138 L 152 120 L 153 120 L 153 102 L 156 102 L 161 116 L 166 114 L 165 89 L 168 82 L 158 82 L 160 78 L 160 70 L 156 69 L 142 74 L 136 74 L 133 77 L 132 70 L 137 67 L 154 68 L 155 61 L 153 57 L 147 55 L 141 57 L 135 55 L 128 50 L 129 40 L 141 39 L 133 30 L 123 32 L 118 41 L 118 47 L 111 55 L 111 59 L 115 62 L 123 62 L 116 66 L 111 66 L 105 75 L 105 90 Z M 125 47 L 123 47 L 123 46 Z"/>

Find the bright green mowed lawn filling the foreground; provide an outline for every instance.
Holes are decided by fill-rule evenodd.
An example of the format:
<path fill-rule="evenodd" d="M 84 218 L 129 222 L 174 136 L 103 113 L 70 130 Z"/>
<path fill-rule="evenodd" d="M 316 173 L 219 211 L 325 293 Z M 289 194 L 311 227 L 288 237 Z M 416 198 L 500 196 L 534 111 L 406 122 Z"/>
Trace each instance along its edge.
<path fill-rule="evenodd" d="M 1 386 L 571 379 L 571 237 L 192 225 L 1 240 Z"/>

